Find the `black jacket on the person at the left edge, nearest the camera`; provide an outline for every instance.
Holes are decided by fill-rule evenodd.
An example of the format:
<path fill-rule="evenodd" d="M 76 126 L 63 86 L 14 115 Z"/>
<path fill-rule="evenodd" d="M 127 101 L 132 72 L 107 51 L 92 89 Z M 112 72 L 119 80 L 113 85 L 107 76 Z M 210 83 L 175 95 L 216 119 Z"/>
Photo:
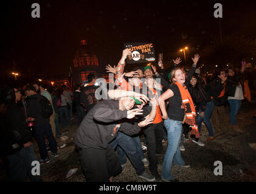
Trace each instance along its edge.
<path fill-rule="evenodd" d="M 6 112 L 1 114 L 0 134 L 0 155 L 2 156 L 18 152 L 23 144 L 32 141 L 22 110 L 15 103 L 9 104 Z M 13 149 L 14 144 L 18 144 L 19 147 Z"/>

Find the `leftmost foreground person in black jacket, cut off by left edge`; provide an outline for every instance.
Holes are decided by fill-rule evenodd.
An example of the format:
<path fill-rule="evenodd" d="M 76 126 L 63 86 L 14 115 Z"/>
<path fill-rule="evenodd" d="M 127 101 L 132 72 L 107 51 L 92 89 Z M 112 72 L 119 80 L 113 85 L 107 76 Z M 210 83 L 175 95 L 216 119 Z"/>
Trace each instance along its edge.
<path fill-rule="evenodd" d="M 38 161 L 32 143 L 32 135 L 26 126 L 25 117 L 15 101 L 21 100 L 19 89 L 1 89 L 0 92 L 0 157 L 7 166 L 10 181 L 42 181 L 32 175 L 32 162 Z"/>

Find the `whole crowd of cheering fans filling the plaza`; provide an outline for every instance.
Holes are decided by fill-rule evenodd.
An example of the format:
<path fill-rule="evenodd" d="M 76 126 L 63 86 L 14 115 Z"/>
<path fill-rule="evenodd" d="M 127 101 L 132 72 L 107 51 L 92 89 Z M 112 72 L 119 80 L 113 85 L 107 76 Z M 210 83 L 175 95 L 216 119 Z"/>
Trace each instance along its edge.
<path fill-rule="evenodd" d="M 42 82 L 1 87 L 0 158 L 11 181 L 26 181 L 27 176 L 30 181 L 42 181 L 39 175 L 32 175 L 32 161 L 46 164 L 50 157 L 58 157 L 58 138 L 63 136 L 60 124 L 70 127 L 72 109 L 78 116 L 75 146 L 88 182 L 113 181 L 127 158 L 142 179 L 179 181 L 171 174 L 172 163 L 190 167 L 180 151 L 185 150 L 184 139 L 204 146 L 200 141 L 203 121 L 209 132 L 207 141 L 214 141 L 221 133 L 243 133 L 235 116 L 243 99 L 251 101 L 245 61 L 240 69 L 220 69 L 207 80 L 196 68 L 197 54 L 188 72 L 179 67 L 180 58 L 173 59 L 168 69 L 159 62 L 159 68 L 147 65 L 125 72 L 130 55 L 125 49 L 117 66 L 106 66 L 107 72 L 115 75 L 106 90 L 95 85 L 93 74 L 88 75 L 86 87 L 76 84 L 74 92 L 65 86 L 46 90 Z M 99 94 L 106 98 L 99 98 Z M 224 116 L 227 106 L 229 121 Z M 40 159 L 32 138 L 38 144 Z M 163 142 L 168 144 L 166 152 Z M 161 173 L 157 171 L 159 155 L 164 155 Z"/>

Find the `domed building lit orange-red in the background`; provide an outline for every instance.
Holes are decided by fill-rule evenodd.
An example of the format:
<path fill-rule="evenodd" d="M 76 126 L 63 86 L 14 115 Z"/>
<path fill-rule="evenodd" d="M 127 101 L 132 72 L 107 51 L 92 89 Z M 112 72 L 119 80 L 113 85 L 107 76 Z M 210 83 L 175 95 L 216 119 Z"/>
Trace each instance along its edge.
<path fill-rule="evenodd" d="M 72 73 L 76 83 L 87 81 L 89 73 L 94 73 L 97 78 L 108 79 L 108 75 L 103 75 L 106 74 L 105 69 L 102 71 L 97 56 L 91 52 L 85 40 L 80 41 L 80 47 L 75 53 Z"/>

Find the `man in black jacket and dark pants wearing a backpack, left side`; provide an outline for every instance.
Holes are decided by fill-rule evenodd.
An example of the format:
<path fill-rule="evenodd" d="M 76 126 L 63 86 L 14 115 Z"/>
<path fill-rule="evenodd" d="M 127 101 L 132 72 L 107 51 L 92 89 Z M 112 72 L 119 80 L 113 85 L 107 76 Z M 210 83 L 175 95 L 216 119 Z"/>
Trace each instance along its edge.
<path fill-rule="evenodd" d="M 26 89 L 29 100 L 27 106 L 29 108 L 29 119 L 34 122 L 34 136 L 38 142 L 39 152 L 41 155 L 40 164 L 49 163 L 50 159 L 47 154 L 46 142 L 44 136 L 49 140 L 50 155 L 57 157 L 57 142 L 52 133 L 52 128 L 50 127 L 50 118 L 44 118 L 42 115 L 42 107 L 39 99 L 42 96 L 36 93 L 35 87 L 29 85 Z"/>

